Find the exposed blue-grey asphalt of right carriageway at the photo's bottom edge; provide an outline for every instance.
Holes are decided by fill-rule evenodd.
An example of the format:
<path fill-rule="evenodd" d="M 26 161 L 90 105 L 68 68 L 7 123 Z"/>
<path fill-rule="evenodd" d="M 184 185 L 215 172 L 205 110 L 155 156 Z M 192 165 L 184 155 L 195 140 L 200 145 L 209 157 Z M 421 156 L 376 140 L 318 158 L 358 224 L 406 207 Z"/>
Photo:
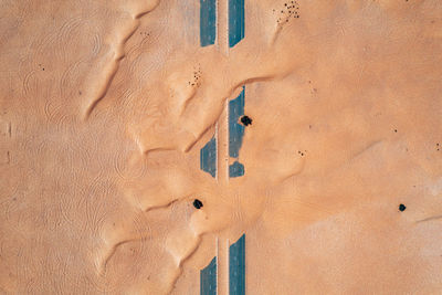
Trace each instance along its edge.
<path fill-rule="evenodd" d="M 229 249 L 229 294 L 245 295 L 245 234 Z"/>

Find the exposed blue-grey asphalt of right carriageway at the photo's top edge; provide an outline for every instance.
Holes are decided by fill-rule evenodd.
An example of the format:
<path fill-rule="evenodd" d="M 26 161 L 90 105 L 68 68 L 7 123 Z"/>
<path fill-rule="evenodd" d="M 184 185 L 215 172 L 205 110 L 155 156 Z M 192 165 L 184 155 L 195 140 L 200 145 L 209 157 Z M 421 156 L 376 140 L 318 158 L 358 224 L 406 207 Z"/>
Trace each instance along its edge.
<path fill-rule="evenodd" d="M 229 46 L 244 39 L 244 0 L 229 0 Z"/>

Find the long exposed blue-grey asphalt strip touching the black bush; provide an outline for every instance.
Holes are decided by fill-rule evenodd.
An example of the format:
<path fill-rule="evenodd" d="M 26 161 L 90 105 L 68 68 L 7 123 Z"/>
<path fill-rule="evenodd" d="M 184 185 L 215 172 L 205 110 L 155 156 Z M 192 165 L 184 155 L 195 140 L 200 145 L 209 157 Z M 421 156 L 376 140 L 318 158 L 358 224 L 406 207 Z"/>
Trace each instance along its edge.
<path fill-rule="evenodd" d="M 240 156 L 244 136 L 244 126 L 238 124 L 240 117 L 244 115 L 244 92 L 245 87 L 236 98 L 229 102 L 229 156 L 232 158 Z"/>

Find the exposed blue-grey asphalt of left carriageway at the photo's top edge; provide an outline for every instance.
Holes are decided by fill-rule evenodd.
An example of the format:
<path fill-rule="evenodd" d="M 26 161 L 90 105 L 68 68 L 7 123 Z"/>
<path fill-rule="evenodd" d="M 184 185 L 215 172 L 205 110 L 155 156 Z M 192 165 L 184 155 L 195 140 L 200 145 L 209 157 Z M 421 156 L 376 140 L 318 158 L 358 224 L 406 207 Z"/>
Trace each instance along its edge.
<path fill-rule="evenodd" d="M 217 0 L 200 0 L 201 46 L 214 44 L 217 38 Z"/>

